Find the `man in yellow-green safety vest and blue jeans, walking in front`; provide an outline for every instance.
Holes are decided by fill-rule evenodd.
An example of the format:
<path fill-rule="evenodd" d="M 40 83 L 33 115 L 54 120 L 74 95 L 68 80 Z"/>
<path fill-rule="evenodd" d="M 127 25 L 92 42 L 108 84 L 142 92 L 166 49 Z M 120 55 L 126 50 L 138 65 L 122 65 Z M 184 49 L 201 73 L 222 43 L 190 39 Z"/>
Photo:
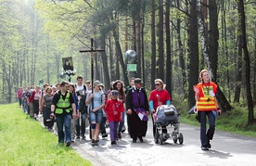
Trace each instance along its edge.
<path fill-rule="evenodd" d="M 64 143 L 64 125 L 65 142 L 67 147 L 69 147 L 71 144 L 71 115 L 73 116 L 73 118 L 76 117 L 76 107 L 74 99 L 68 89 L 68 82 L 60 83 L 60 90 L 53 97 L 51 106 L 51 116 L 56 116 L 56 122 L 58 127 L 58 143 Z"/>

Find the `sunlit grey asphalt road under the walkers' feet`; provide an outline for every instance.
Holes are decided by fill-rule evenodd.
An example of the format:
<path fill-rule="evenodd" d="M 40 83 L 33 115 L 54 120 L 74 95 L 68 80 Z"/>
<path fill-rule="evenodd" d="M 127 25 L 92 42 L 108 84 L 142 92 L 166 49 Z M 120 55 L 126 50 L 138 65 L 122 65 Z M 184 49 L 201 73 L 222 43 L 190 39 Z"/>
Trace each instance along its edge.
<path fill-rule="evenodd" d="M 107 131 L 109 133 L 109 129 Z M 173 129 L 170 132 L 173 132 Z M 116 146 L 110 145 L 108 136 L 106 139 L 100 138 L 98 147 L 92 147 L 86 134 L 85 140 L 76 140 L 71 147 L 96 166 L 256 165 L 255 138 L 216 131 L 211 141 L 211 149 L 202 151 L 198 127 L 182 123 L 180 132 L 184 135 L 183 145 L 174 144 L 172 138 L 163 145 L 155 144 L 152 121 L 148 121 L 144 143 L 132 143 L 126 131 Z"/>

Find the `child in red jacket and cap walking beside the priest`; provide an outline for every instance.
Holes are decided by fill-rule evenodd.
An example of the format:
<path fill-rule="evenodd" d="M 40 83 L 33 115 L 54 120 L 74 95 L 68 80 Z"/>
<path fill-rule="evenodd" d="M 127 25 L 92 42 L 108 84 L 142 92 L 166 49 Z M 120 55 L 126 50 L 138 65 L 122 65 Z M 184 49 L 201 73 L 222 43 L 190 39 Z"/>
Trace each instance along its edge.
<path fill-rule="evenodd" d="M 122 100 L 118 99 L 118 91 L 111 91 L 111 99 L 108 100 L 105 111 L 108 115 L 111 145 L 116 145 L 118 124 L 121 121 L 121 112 L 124 111 Z"/>

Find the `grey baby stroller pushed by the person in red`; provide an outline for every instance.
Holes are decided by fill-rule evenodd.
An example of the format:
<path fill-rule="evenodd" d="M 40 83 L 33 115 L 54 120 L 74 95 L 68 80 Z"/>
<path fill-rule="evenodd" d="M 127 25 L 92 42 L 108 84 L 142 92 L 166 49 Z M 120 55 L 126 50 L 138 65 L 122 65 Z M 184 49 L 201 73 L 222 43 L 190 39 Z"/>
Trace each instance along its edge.
<path fill-rule="evenodd" d="M 155 143 L 162 145 L 168 138 L 173 137 L 173 142 L 176 144 L 179 140 L 180 145 L 183 144 L 183 134 L 179 132 L 180 128 L 180 114 L 173 105 L 161 105 L 156 110 L 156 117 L 153 118 L 153 125 L 156 127 Z M 168 133 L 168 125 L 173 128 L 173 133 Z M 166 133 L 162 133 L 162 129 Z"/>

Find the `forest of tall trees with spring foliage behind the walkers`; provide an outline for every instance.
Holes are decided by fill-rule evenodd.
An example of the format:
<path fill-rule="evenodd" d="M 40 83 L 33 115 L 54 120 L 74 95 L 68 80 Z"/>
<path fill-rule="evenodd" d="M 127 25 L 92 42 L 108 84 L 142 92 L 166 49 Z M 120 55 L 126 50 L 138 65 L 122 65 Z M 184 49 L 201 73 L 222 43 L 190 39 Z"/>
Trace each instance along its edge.
<path fill-rule="evenodd" d="M 0 0 L 0 10 L 1 104 L 15 102 L 19 87 L 67 80 L 62 58 L 72 57 L 72 83 L 83 75 L 109 89 L 135 76 L 150 92 L 160 78 L 187 108 L 199 71 L 210 70 L 221 109 L 238 103 L 255 121 L 255 0 Z M 90 49 L 104 51 L 81 53 Z"/>

